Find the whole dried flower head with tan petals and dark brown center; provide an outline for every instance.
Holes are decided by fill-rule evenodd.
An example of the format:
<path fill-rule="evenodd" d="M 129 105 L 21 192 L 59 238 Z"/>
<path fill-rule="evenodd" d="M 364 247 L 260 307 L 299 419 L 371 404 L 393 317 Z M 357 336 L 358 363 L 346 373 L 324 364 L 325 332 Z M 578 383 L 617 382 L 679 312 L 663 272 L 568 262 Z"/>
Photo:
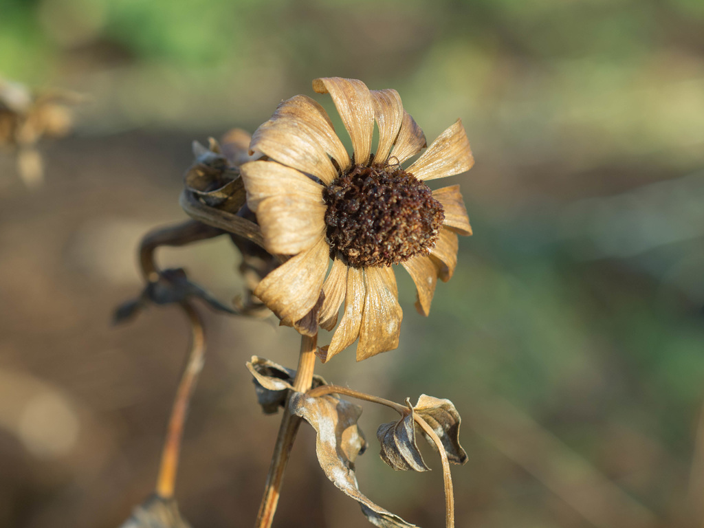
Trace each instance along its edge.
<path fill-rule="evenodd" d="M 282 102 L 254 133 L 250 152 L 265 157 L 241 166 L 247 203 L 268 251 L 291 256 L 254 293 L 282 324 L 308 335 L 318 321 L 332 329 L 344 299 L 340 325 L 319 355 L 327 361 L 359 338 L 363 360 L 398 346 L 403 313 L 391 265 L 413 277 L 424 315 L 437 278 L 452 276 L 457 234 L 472 228 L 459 186 L 431 191 L 425 182 L 469 170 L 474 159 L 457 120 L 404 169 L 427 144 L 396 90 L 340 77 L 316 79 L 313 89 L 332 96 L 354 153 L 322 106 L 303 95 Z"/>

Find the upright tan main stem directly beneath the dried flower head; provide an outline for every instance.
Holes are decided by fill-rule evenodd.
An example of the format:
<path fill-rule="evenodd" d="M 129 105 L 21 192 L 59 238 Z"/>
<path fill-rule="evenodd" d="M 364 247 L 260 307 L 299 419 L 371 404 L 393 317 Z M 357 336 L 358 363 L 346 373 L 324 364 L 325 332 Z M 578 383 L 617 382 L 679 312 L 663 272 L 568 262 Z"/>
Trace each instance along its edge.
<path fill-rule="evenodd" d="M 298 357 L 298 370 L 294 379 L 294 390 L 306 392 L 313 382 L 313 369 L 315 368 L 315 348 L 318 344 L 318 335 L 313 337 L 301 336 L 301 355 Z M 288 403 L 288 402 L 287 402 Z M 276 506 L 281 494 L 281 484 L 284 479 L 284 470 L 289 462 L 291 447 L 294 445 L 301 418 L 292 415 L 289 406 L 284 408 L 284 415 L 279 425 L 279 434 L 274 447 L 269 472 L 264 486 L 264 496 L 257 514 L 256 528 L 269 528 L 274 520 Z"/>

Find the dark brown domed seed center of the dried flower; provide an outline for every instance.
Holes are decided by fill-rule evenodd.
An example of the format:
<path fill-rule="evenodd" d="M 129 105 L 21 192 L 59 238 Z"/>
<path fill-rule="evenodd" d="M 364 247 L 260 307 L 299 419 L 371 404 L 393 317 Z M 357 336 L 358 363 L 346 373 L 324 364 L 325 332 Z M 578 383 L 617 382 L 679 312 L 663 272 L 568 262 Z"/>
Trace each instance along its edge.
<path fill-rule="evenodd" d="M 445 219 L 430 188 L 399 165 L 356 165 L 322 196 L 330 253 L 353 268 L 389 266 L 428 253 Z"/>

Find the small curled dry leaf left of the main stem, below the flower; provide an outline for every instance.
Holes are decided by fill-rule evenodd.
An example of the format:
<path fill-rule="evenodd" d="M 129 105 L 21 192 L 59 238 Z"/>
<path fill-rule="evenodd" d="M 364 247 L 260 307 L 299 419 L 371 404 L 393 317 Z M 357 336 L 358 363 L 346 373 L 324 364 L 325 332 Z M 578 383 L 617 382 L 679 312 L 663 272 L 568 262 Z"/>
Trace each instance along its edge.
<path fill-rule="evenodd" d="M 294 389 L 296 371 L 258 356 L 252 356 L 246 365 L 254 377 L 254 390 L 262 410 L 265 414 L 277 413 L 286 404 L 289 391 Z M 313 389 L 326 384 L 325 379 L 313 375 Z"/>

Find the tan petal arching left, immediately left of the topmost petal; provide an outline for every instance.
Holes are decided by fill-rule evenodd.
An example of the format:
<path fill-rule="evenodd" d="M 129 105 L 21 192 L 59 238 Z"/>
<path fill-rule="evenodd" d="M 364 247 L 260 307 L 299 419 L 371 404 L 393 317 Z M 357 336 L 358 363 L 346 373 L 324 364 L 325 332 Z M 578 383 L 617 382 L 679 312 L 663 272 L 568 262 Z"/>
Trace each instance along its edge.
<path fill-rule="evenodd" d="M 305 127 L 306 133 L 310 134 L 315 142 L 318 142 L 341 169 L 350 166 L 351 160 L 347 149 L 337 137 L 332 121 L 327 115 L 325 108 L 307 95 L 297 95 L 291 97 L 279 105 L 274 116 L 286 116 L 296 120 L 299 125 Z"/>

